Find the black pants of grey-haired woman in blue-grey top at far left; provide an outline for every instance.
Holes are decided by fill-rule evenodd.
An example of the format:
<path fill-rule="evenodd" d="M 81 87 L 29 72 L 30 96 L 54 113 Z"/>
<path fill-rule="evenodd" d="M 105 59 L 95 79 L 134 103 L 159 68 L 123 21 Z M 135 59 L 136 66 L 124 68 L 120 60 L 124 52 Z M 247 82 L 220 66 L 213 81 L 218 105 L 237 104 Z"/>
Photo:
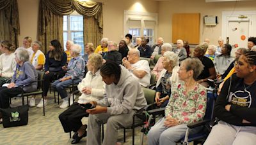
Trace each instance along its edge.
<path fill-rule="evenodd" d="M 20 86 L 15 88 L 1 87 L 0 88 L 0 108 L 10 107 L 9 99 L 19 95 L 20 93 L 22 93 L 22 88 L 20 88 Z"/>

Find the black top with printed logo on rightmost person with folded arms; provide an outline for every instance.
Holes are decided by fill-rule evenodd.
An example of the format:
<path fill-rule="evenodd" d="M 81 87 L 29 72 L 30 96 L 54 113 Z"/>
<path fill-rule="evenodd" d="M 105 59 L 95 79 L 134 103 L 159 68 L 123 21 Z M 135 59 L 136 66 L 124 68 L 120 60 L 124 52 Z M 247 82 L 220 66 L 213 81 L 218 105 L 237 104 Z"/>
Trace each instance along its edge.
<path fill-rule="evenodd" d="M 227 104 L 231 105 L 230 111 L 225 109 Z M 256 81 L 252 85 L 246 85 L 243 78 L 233 74 L 221 89 L 214 114 L 232 125 L 256 126 Z M 243 120 L 250 123 L 242 123 Z"/>

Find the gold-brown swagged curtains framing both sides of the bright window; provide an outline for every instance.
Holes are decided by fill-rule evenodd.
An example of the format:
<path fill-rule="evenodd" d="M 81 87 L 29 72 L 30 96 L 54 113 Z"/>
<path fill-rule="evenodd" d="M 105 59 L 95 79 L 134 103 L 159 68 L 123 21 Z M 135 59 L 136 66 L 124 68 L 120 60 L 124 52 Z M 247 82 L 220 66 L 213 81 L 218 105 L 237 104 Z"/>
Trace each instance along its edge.
<path fill-rule="evenodd" d="M 42 41 L 45 53 L 50 41 L 63 42 L 63 15 L 74 10 L 84 16 L 84 44 L 97 45 L 102 38 L 102 3 L 79 2 L 77 0 L 40 0 L 38 38 Z"/>

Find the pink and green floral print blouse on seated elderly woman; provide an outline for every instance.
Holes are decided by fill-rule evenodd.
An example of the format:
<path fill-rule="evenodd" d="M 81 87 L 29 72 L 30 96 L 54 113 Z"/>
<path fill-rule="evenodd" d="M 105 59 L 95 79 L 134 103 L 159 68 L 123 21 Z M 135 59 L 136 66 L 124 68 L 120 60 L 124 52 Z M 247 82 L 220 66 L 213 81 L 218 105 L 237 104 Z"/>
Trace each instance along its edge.
<path fill-rule="evenodd" d="M 184 83 L 174 86 L 172 97 L 165 108 L 165 116 L 179 120 L 179 124 L 188 124 L 204 118 L 206 109 L 206 89 L 196 83 L 194 90 L 186 92 Z"/>

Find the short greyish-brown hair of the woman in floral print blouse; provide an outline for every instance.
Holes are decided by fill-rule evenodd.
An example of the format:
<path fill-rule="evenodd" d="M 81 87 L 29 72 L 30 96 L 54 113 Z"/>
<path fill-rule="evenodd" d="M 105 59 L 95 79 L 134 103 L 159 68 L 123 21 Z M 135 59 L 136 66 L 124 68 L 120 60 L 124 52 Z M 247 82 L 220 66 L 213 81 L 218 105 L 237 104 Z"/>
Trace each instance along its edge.
<path fill-rule="evenodd" d="M 197 77 L 201 74 L 204 69 L 204 65 L 198 58 L 188 58 L 181 62 L 181 64 L 186 64 L 186 71 L 193 70 L 193 79 L 197 79 Z"/>

